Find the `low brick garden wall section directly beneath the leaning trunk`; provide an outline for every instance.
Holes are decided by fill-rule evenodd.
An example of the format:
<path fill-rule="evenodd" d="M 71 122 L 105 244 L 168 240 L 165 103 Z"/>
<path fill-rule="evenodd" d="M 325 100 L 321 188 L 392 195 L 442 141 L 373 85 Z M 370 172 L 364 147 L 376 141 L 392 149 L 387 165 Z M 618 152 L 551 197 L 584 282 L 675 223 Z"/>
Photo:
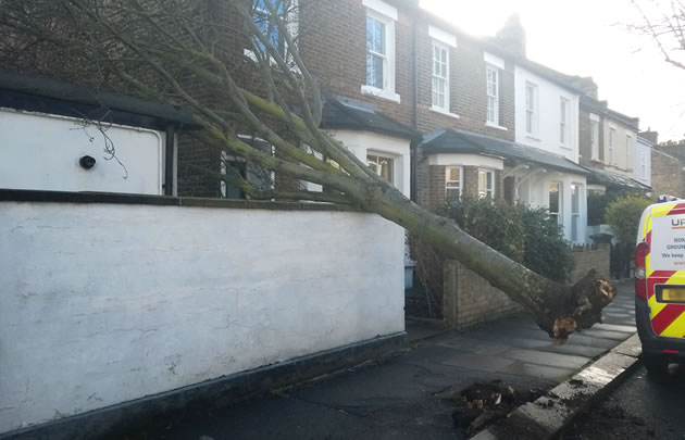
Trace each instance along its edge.
<path fill-rule="evenodd" d="M 445 320 L 454 329 L 494 320 L 522 310 L 502 291 L 456 261 L 445 262 Z"/>

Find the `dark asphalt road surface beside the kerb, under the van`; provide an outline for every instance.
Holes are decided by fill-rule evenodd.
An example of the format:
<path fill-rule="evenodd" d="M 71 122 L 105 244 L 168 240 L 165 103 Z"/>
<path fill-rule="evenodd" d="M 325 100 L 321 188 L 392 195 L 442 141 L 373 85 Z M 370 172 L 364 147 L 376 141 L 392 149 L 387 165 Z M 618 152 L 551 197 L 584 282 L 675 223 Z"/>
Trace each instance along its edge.
<path fill-rule="evenodd" d="M 640 365 L 561 438 L 685 439 L 685 367 L 655 379 Z"/>

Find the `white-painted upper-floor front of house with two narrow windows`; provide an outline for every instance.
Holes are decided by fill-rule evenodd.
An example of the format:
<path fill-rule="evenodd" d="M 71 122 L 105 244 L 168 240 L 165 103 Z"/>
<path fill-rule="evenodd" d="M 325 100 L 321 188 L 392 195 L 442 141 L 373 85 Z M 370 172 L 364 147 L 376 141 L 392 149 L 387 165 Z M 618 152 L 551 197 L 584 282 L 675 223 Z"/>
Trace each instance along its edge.
<path fill-rule="evenodd" d="M 535 136 L 526 133 L 525 92 L 526 81 L 538 88 L 538 133 Z M 539 148 L 540 150 L 560 154 L 578 162 L 578 96 L 557 86 L 521 66 L 514 68 L 514 99 L 516 142 Z M 561 98 L 569 100 L 568 122 L 569 142 L 560 142 Z"/>

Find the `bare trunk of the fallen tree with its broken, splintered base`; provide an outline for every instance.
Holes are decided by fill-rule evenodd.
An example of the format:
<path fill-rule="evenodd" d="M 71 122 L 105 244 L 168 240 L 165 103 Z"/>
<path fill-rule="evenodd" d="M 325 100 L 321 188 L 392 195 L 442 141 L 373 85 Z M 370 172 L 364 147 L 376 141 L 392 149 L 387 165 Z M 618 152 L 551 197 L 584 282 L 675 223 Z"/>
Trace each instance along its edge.
<path fill-rule="evenodd" d="M 443 256 L 457 260 L 523 305 L 557 343 L 573 331 L 601 322 L 601 310 L 615 288 L 590 271 L 575 285 L 563 285 L 534 273 L 464 232 L 454 221 L 409 201 L 395 188 L 365 188 L 362 209 L 396 223 Z"/>

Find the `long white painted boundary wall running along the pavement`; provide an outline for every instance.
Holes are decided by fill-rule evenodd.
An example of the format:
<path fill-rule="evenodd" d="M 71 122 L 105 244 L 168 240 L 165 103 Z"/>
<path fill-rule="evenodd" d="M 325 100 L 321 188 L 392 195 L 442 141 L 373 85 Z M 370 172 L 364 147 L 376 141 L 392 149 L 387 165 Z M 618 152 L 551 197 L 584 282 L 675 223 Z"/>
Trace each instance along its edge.
<path fill-rule="evenodd" d="M 0 202 L 0 432 L 404 329 L 372 214 Z"/>

